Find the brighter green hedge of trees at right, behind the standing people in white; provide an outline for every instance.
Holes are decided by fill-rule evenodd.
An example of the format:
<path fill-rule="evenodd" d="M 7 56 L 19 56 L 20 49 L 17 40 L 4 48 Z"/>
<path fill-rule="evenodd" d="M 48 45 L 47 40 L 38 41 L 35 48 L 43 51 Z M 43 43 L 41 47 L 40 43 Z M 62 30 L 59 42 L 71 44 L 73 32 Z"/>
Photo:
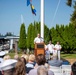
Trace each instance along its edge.
<path fill-rule="evenodd" d="M 73 24 L 56 25 L 56 28 L 51 28 L 50 32 L 53 43 L 60 41 L 64 52 L 69 53 L 76 50 L 76 28 Z"/>

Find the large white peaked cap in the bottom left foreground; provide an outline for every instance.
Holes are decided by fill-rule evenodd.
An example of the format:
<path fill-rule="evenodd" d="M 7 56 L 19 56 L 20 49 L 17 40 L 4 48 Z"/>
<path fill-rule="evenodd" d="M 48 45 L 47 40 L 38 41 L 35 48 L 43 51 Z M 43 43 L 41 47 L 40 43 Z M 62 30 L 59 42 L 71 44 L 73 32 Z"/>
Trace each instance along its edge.
<path fill-rule="evenodd" d="M 1 68 L 1 70 L 8 70 L 8 69 L 14 68 L 16 62 L 17 62 L 17 60 L 15 60 L 15 59 L 4 60 L 0 64 L 0 68 Z"/>

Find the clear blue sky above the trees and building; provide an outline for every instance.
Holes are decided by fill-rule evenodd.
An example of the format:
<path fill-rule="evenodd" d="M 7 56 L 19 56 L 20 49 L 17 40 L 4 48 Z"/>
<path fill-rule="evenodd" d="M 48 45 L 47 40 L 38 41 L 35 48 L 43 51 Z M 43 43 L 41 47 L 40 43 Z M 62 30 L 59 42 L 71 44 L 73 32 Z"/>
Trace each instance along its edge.
<path fill-rule="evenodd" d="M 30 6 L 27 7 L 26 0 L 0 0 L 0 33 L 11 32 L 19 35 L 21 26 L 21 14 L 26 28 L 34 21 L 40 21 L 40 1 L 32 0 L 36 9 L 36 16 L 31 13 Z M 59 7 L 58 2 L 60 1 Z M 69 24 L 73 8 L 66 5 L 66 0 L 45 0 L 44 22 L 47 27 L 55 27 L 56 24 Z"/>

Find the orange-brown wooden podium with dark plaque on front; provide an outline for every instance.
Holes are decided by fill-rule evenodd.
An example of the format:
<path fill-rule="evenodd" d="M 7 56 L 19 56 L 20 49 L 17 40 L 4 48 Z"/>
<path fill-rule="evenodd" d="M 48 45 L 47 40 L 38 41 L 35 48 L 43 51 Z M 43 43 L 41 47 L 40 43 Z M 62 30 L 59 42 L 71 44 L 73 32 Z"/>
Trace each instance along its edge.
<path fill-rule="evenodd" d="M 45 44 L 44 43 L 35 43 L 35 49 L 34 49 L 35 56 L 38 54 L 45 55 Z"/>

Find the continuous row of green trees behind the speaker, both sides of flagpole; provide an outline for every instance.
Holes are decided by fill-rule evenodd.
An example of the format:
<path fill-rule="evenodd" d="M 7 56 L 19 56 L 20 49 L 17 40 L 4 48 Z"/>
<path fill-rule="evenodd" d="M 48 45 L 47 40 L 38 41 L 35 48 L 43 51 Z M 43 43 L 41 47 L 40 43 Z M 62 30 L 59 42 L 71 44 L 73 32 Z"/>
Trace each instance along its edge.
<path fill-rule="evenodd" d="M 40 33 L 40 22 L 34 22 L 30 24 L 27 32 L 27 45 L 29 49 L 34 48 L 34 38 L 37 36 L 37 33 Z M 76 50 L 76 28 L 72 23 L 69 25 L 56 25 L 56 27 L 48 28 L 44 25 L 44 41 L 45 44 L 48 44 L 50 40 L 54 44 L 57 41 L 60 41 L 62 45 L 62 51 L 64 52 L 73 52 Z"/>

